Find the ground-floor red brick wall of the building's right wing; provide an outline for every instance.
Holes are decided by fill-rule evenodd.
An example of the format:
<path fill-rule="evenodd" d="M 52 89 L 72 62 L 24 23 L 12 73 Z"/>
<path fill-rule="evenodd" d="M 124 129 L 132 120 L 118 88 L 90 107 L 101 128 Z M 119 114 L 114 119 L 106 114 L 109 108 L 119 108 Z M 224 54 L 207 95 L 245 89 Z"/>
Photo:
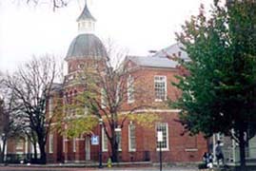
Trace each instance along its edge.
<path fill-rule="evenodd" d="M 184 128 L 175 121 L 176 113 L 160 113 L 160 115 L 163 117 L 162 122 L 168 124 L 169 150 L 163 152 L 163 161 L 201 161 L 203 153 L 207 151 L 207 142 L 203 136 L 190 137 L 187 134 L 182 136 Z M 133 160 L 145 160 L 145 153 L 149 151 L 150 161 L 158 161 L 155 126 L 148 128 L 136 125 L 135 131 L 136 152 L 128 152 L 128 123 L 122 129 L 122 160 L 130 161 L 131 156 Z"/>

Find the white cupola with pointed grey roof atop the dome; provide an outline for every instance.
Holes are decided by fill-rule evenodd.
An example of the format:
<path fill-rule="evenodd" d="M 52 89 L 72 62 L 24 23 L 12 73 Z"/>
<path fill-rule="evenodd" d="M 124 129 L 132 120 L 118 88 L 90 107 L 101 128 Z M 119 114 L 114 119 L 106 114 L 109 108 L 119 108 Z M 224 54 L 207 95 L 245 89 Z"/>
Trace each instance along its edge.
<path fill-rule="evenodd" d="M 90 14 L 87 1 L 85 8 L 76 20 L 78 24 L 78 33 L 94 33 L 96 19 Z"/>

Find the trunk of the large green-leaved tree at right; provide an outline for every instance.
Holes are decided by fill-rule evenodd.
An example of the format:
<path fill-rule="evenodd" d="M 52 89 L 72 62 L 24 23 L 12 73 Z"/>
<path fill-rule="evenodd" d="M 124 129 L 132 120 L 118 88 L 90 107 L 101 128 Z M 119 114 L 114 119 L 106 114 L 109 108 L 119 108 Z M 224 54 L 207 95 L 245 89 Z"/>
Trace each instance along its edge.
<path fill-rule="evenodd" d="M 246 171 L 246 141 L 244 128 L 239 130 L 240 171 Z"/>

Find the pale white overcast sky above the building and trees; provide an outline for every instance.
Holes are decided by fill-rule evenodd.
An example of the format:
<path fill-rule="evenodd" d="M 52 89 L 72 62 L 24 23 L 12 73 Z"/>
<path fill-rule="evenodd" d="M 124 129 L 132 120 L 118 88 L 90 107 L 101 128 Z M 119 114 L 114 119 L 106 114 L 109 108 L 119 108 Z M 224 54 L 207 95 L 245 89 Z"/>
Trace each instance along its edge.
<path fill-rule="evenodd" d="M 52 54 L 64 59 L 78 34 L 76 19 L 85 0 L 70 0 L 68 7 L 53 11 L 50 0 L 36 7 L 24 0 L 0 0 L 0 71 L 14 71 L 30 58 Z M 129 55 L 148 55 L 175 43 L 175 32 L 200 4 L 212 0 L 88 0 L 97 19 L 95 34 L 111 39 Z"/>

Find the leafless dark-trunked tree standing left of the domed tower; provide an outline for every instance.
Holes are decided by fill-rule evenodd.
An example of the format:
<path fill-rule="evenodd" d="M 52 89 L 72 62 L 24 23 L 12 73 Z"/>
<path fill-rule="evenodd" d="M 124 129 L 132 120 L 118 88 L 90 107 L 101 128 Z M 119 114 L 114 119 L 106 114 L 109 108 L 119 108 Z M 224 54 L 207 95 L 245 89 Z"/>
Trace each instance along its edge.
<path fill-rule="evenodd" d="M 15 117 L 22 119 L 25 133 L 33 135 L 30 138 L 39 145 L 41 163 L 46 163 L 48 125 L 52 121 L 52 117 L 46 117 L 46 105 L 58 74 L 55 59 L 45 55 L 40 58 L 33 57 L 5 81 L 5 85 L 11 89 L 16 103 L 19 104 L 16 109 L 19 112 Z M 30 133 L 27 130 L 30 130 Z"/>

